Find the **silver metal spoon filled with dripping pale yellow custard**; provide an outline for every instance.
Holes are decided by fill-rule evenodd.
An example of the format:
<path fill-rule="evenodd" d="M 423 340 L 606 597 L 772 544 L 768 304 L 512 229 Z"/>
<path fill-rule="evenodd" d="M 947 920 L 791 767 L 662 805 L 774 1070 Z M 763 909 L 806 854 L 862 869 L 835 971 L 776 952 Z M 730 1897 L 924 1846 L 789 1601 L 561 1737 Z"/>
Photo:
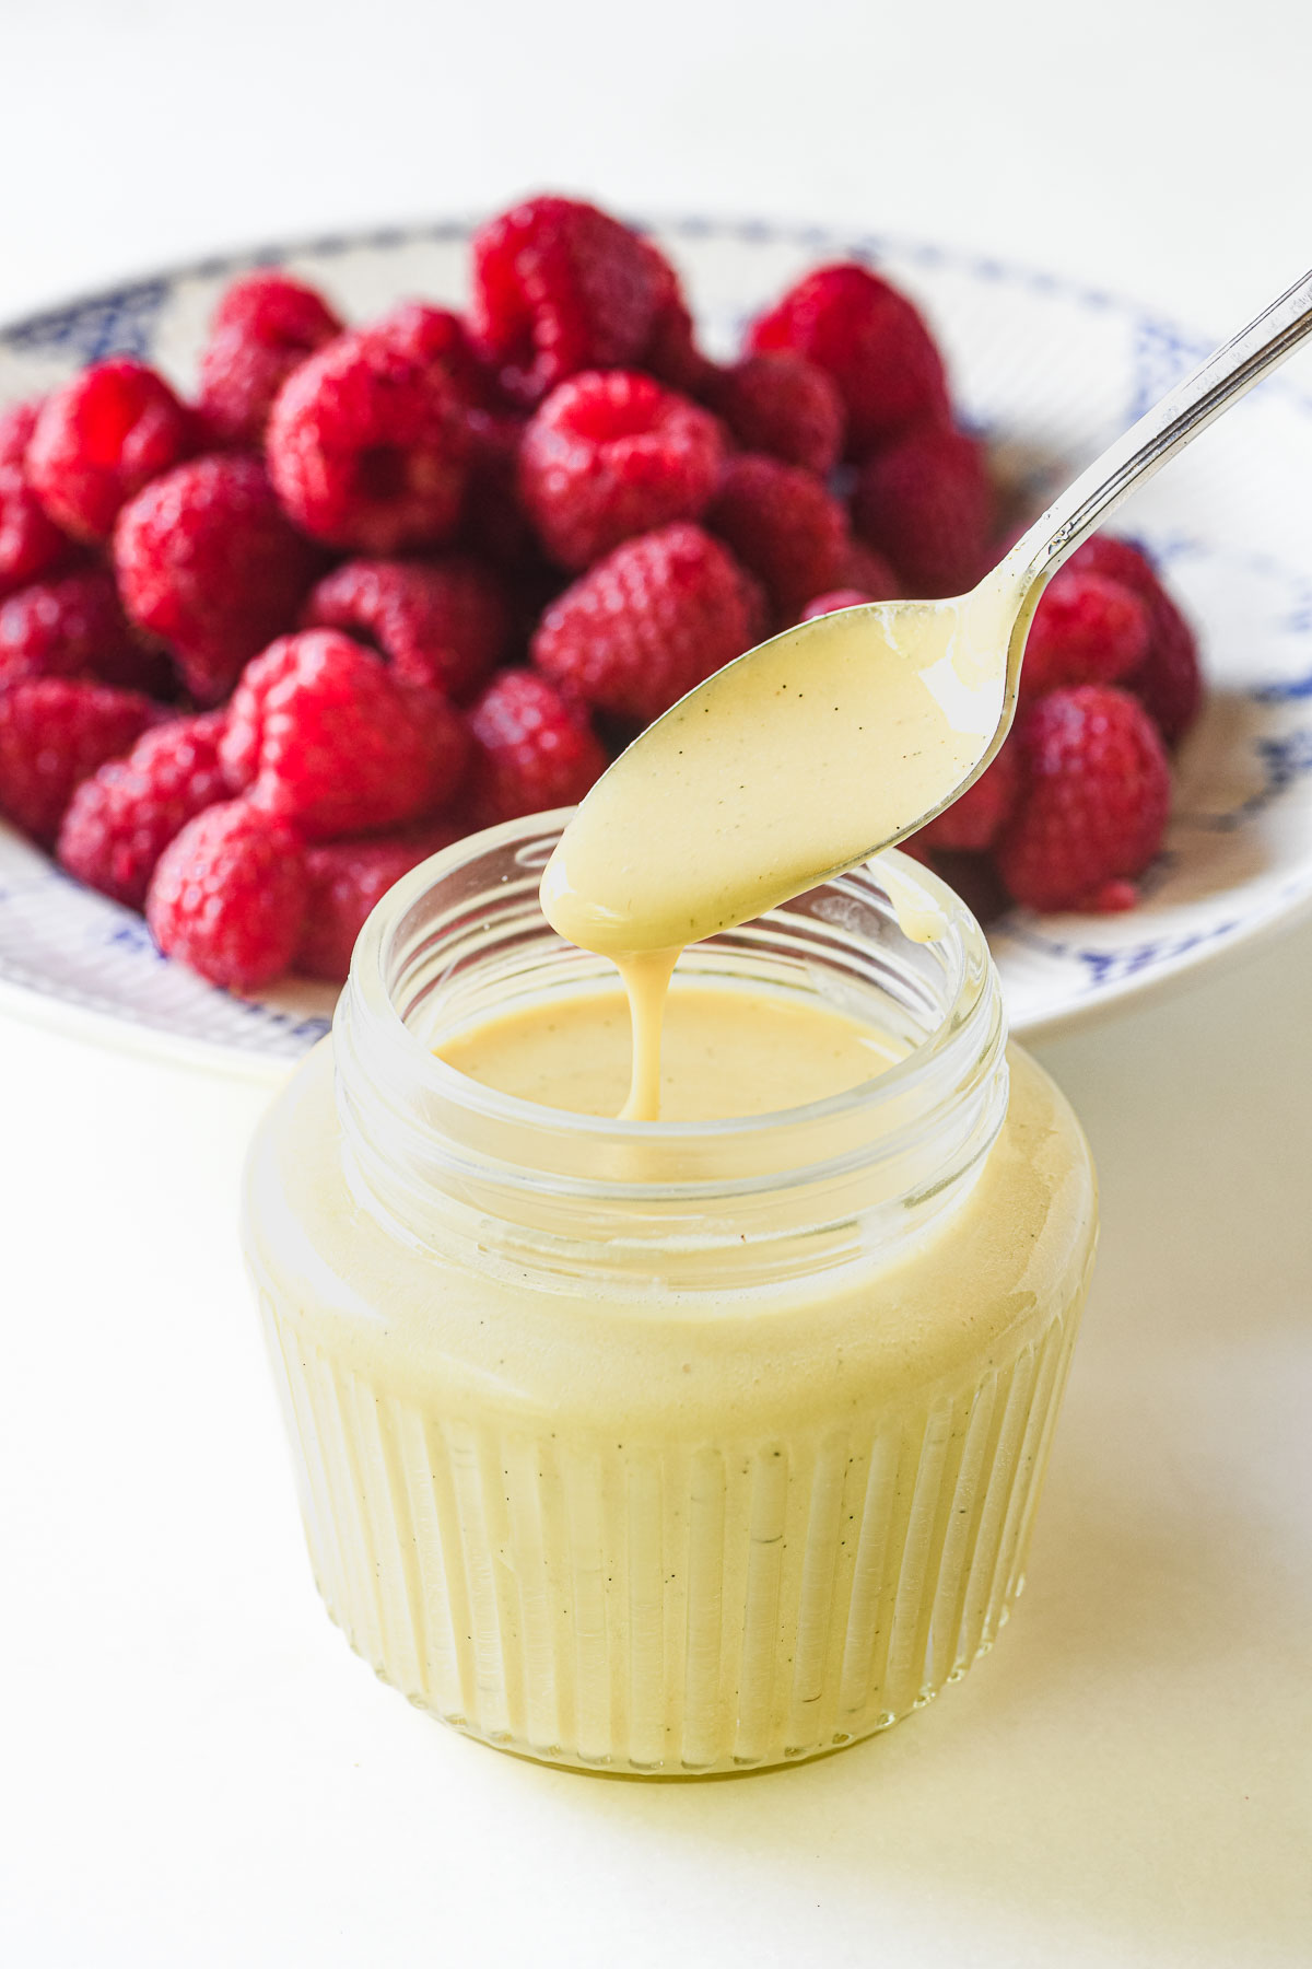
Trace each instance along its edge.
<path fill-rule="evenodd" d="M 584 949 L 675 949 L 893 847 L 985 770 L 1062 561 L 1312 335 L 1312 274 L 1070 484 L 970 595 L 877 603 L 747 650 L 633 740 L 543 876 Z"/>

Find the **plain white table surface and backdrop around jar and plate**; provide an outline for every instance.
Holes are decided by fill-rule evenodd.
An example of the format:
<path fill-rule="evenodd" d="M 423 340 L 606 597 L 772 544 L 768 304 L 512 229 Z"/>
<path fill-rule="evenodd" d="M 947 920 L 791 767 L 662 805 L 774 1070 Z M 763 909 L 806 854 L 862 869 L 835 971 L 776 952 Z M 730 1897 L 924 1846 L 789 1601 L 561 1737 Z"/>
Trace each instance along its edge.
<path fill-rule="evenodd" d="M 541 185 L 1216 329 L 1312 258 L 1302 0 L 881 14 L 0 0 L 0 313 Z M 0 1957 L 1306 1969 L 1310 979 L 1304 929 L 1043 1049 L 1103 1250 L 1025 1601 L 889 1737 L 694 1786 L 496 1756 L 350 1656 L 236 1252 L 264 1091 L 2 1020 Z"/>

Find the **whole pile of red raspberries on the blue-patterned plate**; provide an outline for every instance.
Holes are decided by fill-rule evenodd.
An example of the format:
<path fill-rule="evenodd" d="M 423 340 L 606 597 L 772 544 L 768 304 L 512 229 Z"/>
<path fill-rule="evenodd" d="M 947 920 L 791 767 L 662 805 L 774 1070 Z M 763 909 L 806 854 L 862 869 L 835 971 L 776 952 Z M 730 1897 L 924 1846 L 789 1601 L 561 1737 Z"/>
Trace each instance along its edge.
<path fill-rule="evenodd" d="M 0 412 L 0 811 L 216 984 L 342 979 L 423 857 L 580 799 L 771 632 L 962 593 L 1001 545 L 877 274 L 818 268 L 722 366 L 647 238 L 529 199 L 474 236 L 464 315 L 346 327 L 264 270 L 195 402 L 112 356 Z M 1094 540 L 1013 736 L 917 853 L 1035 910 L 1129 906 L 1198 697 L 1153 567 Z"/>

